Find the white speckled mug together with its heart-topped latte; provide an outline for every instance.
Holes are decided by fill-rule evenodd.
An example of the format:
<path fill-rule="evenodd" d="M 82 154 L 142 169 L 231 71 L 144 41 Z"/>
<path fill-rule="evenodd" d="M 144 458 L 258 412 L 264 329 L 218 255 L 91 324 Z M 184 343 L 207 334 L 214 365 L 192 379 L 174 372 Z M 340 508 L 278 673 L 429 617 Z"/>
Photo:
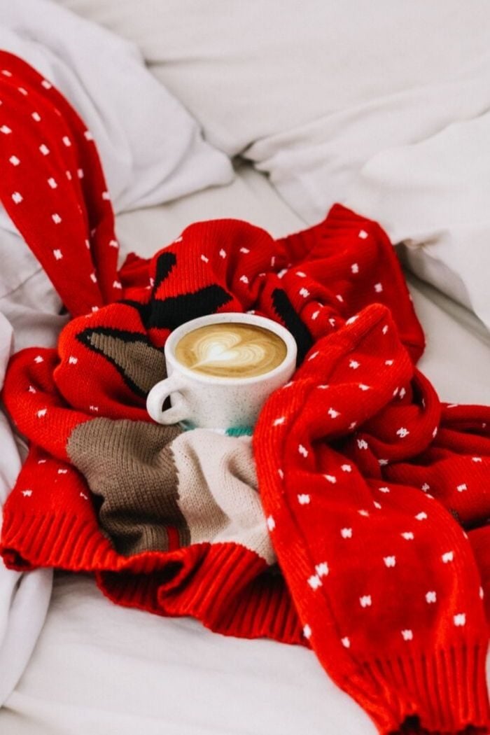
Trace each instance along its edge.
<path fill-rule="evenodd" d="M 296 353 L 292 334 L 264 317 L 193 319 L 167 337 L 167 378 L 148 393 L 148 413 L 157 423 L 187 428 L 251 428 L 267 396 L 291 378 Z"/>

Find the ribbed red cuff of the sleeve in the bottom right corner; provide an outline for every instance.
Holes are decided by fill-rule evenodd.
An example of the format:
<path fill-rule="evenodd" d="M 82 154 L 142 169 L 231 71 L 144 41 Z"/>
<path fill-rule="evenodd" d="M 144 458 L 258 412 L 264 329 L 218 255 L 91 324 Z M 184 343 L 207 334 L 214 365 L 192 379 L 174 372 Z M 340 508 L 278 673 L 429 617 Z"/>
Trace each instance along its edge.
<path fill-rule="evenodd" d="M 488 735 L 487 649 L 482 640 L 433 653 L 373 659 L 361 664 L 359 678 L 345 681 L 343 687 L 383 735 Z"/>

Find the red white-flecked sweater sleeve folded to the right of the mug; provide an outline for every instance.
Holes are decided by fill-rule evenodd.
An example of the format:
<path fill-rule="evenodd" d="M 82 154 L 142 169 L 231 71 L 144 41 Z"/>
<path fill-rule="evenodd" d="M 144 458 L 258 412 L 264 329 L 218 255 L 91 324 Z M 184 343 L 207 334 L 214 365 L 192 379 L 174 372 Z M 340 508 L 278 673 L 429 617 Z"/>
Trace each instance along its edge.
<path fill-rule="evenodd" d="M 443 421 L 433 447 L 441 410 L 389 312 L 373 305 L 317 342 L 254 434 L 303 634 L 383 734 L 414 718 L 430 733 L 489 724 L 483 570 L 451 510 L 456 499 L 466 522 L 488 517 L 480 473 L 488 477 L 490 444 L 472 439 L 475 461 L 453 435 L 444 453 Z"/>

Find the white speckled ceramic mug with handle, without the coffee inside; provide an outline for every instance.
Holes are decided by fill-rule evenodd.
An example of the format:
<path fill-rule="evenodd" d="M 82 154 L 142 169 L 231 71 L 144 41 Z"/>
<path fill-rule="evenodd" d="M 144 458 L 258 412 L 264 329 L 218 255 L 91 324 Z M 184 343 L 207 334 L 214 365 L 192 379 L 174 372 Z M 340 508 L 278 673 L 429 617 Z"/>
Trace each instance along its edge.
<path fill-rule="evenodd" d="M 190 370 L 176 359 L 175 349 L 182 337 L 202 326 L 216 323 L 245 323 L 268 329 L 286 345 L 280 365 L 267 373 L 246 378 L 209 376 Z M 296 343 L 281 324 L 253 314 L 211 314 L 193 319 L 175 329 L 165 343 L 167 378 L 148 393 L 146 407 L 157 423 L 184 423 L 203 429 L 252 427 L 267 397 L 289 381 L 296 367 Z M 163 409 L 170 397 L 170 408 Z"/>

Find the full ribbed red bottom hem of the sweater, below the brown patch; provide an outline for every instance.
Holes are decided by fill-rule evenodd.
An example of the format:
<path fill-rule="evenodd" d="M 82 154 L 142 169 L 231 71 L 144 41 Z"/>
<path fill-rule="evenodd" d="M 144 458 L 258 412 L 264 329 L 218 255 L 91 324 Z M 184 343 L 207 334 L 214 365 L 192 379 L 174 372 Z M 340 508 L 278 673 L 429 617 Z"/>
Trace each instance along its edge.
<path fill-rule="evenodd" d="M 160 615 L 190 615 L 226 635 L 305 643 L 284 578 L 234 543 L 120 556 L 95 520 L 70 514 L 4 517 L 0 553 L 17 570 L 57 567 L 95 572 L 114 602 Z"/>

